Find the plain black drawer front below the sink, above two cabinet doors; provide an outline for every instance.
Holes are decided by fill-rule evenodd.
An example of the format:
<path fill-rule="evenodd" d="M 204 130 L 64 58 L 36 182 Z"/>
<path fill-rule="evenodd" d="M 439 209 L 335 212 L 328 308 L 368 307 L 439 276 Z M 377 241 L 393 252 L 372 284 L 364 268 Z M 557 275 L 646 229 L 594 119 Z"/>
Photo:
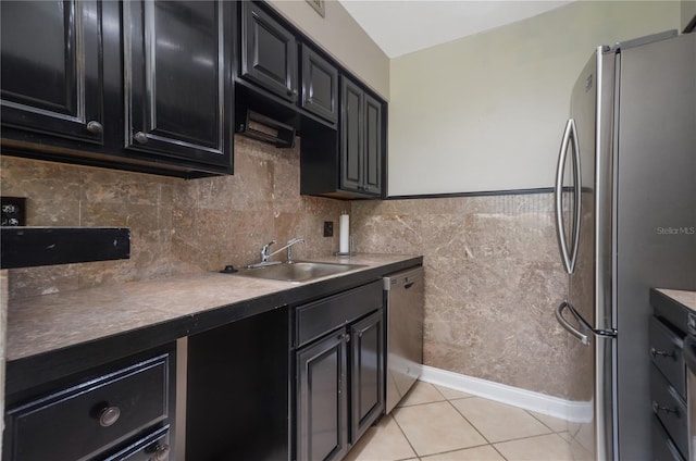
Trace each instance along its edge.
<path fill-rule="evenodd" d="M 330 296 L 295 311 L 296 346 L 302 346 L 382 307 L 382 281 Z"/>

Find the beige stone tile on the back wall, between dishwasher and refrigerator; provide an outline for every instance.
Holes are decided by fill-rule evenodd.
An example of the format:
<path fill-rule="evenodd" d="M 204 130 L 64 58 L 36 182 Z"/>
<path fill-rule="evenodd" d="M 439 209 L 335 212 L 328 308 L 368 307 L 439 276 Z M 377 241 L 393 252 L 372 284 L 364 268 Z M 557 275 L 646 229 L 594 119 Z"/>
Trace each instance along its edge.
<path fill-rule="evenodd" d="M 551 194 L 353 202 L 352 214 L 359 251 L 424 257 L 426 365 L 573 398 Z"/>

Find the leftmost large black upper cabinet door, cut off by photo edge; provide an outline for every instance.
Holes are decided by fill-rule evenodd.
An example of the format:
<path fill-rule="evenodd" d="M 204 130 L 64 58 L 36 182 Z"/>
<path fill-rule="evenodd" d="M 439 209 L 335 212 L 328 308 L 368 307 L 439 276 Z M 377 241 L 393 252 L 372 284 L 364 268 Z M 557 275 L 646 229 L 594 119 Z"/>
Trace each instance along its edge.
<path fill-rule="evenodd" d="M 101 4 L 2 1 L 2 125 L 103 141 Z"/>

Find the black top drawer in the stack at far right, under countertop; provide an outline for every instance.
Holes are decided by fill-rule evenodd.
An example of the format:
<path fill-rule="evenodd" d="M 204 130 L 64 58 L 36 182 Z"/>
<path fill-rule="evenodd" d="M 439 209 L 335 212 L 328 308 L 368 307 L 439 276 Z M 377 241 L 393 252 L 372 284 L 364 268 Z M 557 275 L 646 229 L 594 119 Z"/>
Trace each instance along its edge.
<path fill-rule="evenodd" d="M 655 366 L 686 400 L 686 365 L 682 357 L 683 336 L 657 317 L 650 317 L 650 358 Z"/>

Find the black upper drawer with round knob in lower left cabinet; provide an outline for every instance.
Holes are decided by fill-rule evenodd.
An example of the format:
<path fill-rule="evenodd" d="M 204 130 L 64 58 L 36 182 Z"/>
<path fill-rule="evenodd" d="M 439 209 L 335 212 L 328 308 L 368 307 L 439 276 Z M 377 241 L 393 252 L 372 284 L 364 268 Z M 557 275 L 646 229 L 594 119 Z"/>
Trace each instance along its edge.
<path fill-rule="evenodd" d="M 164 353 L 10 409 L 8 461 L 83 460 L 164 421 L 171 360 Z"/>

